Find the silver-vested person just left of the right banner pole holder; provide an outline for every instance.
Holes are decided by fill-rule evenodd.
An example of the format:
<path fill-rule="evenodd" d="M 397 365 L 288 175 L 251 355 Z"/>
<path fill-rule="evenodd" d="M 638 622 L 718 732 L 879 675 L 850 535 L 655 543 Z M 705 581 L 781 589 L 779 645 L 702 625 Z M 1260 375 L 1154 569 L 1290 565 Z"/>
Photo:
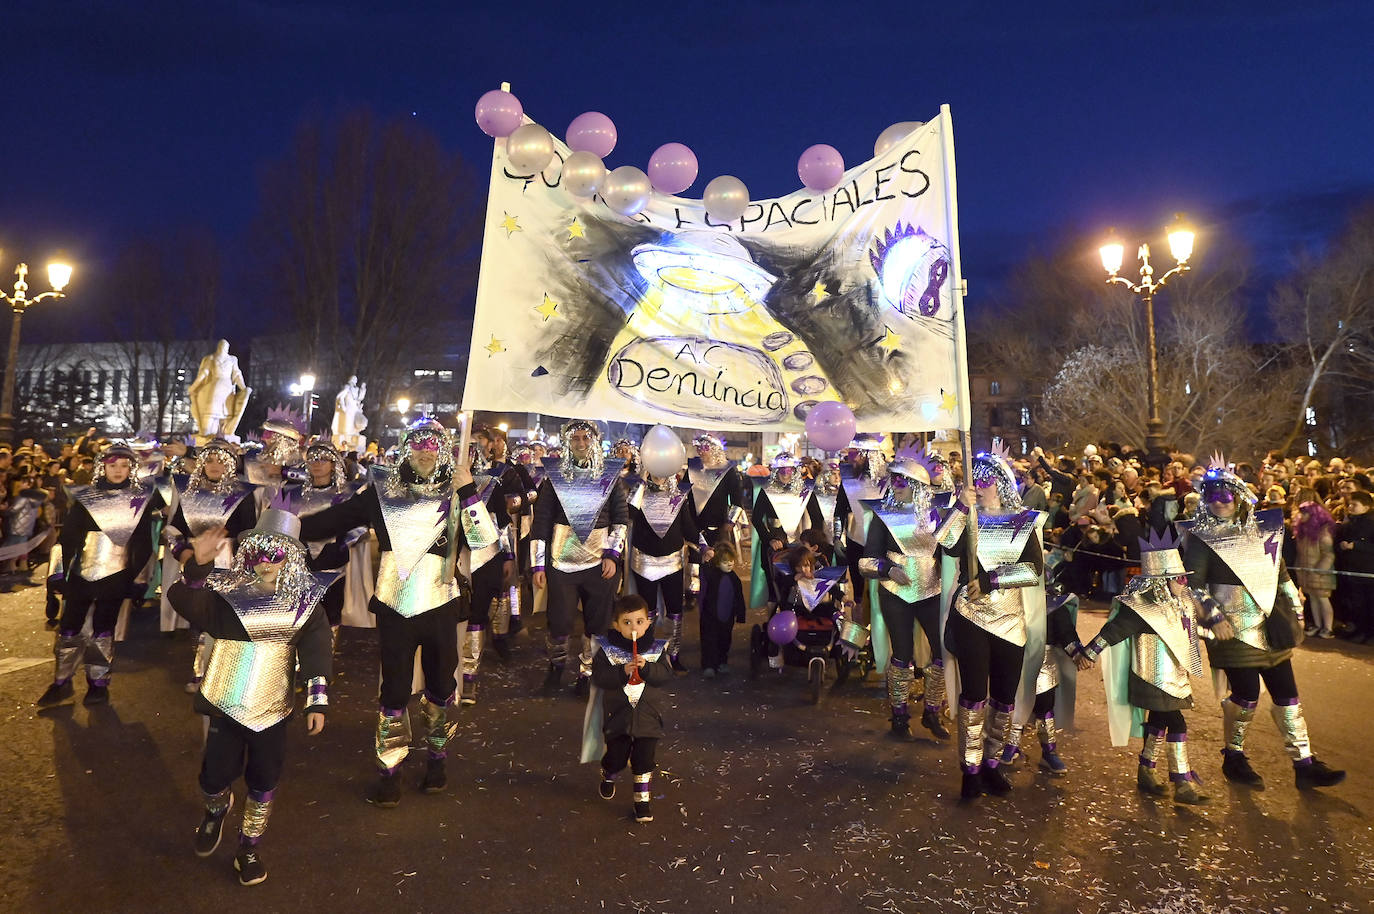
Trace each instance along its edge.
<path fill-rule="evenodd" d="M 888 705 L 892 734 L 911 735 L 908 695 L 915 678 L 915 629 L 921 625 L 930 643 L 925 678 L 925 709 L 921 726 L 948 739 L 941 720 L 945 693 L 944 650 L 940 639 L 940 548 L 936 531 L 940 513 L 932 506 L 933 481 L 943 480 L 938 462 L 923 451 L 899 451 L 888 465 L 888 491 L 866 499 L 863 511 L 872 520 L 861 540 L 859 570 L 878 580 L 878 610 L 892 639 L 888 662 Z"/>

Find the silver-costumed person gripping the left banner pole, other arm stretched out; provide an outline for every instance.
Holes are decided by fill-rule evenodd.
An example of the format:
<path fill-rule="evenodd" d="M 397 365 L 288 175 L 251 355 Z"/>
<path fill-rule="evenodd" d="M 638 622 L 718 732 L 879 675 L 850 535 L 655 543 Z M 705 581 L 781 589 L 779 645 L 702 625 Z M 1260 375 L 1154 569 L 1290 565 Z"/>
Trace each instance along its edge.
<path fill-rule="evenodd" d="M 463 462 L 453 460 L 452 437 L 427 416 L 407 427 L 394 469 L 372 466 L 371 485 L 302 518 L 301 535 L 306 542 L 324 540 L 359 526 L 376 532 L 382 553 L 376 594 L 370 603 L 382 660 L 379 777 L 368 800 L 394 807 L 401 801 L 398 775 L 411 746 L 407 708 L 416 647 L 425 673 L 420 715 L 429 746 L 420 790 L 438 793 L 448 785 L 445 746 L 456 726 L 448 720 L 448 708 L 458 689 L 458 624 L 467 617 L 458 553 L 463 547 L 481 548 L 497 533 L 477 498 L 473 474 Z"/>

